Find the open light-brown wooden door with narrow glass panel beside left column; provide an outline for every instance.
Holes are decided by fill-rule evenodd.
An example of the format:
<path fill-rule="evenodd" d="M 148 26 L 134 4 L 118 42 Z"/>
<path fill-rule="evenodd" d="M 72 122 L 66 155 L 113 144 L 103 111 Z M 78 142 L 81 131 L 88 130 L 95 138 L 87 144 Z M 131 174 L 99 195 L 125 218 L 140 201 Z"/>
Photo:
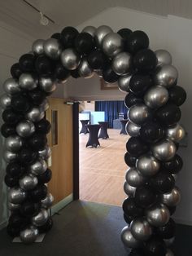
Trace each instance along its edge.
<path fill-rule="evenodd" d="M 52 179 L 48 188 L 55 197 L 54 205 L 59 203 L 62 208 L 73 200 L 73 110 L 63 99 L 50 98 L 49 102 L 46 118 L 51 124 L 48 143 L 52 155 L 48 166 L 52 170 Z"/>

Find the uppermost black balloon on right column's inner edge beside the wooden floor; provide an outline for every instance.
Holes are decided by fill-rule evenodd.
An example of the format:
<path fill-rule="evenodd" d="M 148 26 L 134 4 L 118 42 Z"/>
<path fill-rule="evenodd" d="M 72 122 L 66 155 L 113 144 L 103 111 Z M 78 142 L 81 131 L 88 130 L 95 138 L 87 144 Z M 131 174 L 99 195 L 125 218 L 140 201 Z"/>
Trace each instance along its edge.
<path fill-rule="evenodd" d="M 136 137 L 131 137 L 128 140 L 126 148 L 133 157 L 139 157 L 149 150 L 149 146 L 146 143 L 142 143 L 142 140 Z"/>

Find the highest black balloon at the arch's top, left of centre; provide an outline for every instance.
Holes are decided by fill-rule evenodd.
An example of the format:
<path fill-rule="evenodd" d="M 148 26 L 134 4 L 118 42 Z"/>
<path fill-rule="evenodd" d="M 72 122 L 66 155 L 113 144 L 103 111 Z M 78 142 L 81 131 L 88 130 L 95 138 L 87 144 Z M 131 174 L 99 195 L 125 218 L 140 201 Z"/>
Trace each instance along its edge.
<path fill-rule="evenodd" d="M 73 27 L 65 27 L 61 32 L 61 42 L 65 48 L 71 48 L 74 46 L 74 42 L 78 31 Z"/>

